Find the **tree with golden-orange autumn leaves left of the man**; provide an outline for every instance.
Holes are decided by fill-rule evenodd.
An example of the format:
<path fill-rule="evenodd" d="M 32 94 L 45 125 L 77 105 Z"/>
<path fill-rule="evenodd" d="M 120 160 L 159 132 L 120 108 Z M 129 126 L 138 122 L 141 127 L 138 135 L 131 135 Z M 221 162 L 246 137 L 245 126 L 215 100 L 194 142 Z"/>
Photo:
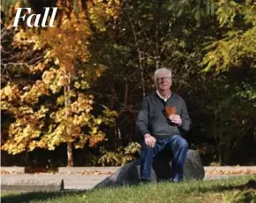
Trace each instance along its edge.
<path fill-rule="evenodd" d="M 14 53 L 30 50 L 30 54 L 38 54 L 39 58 L 30 56 L 34 60 L 31 62 L 21 53 L 13 59 L 15 63 L 7 57 L 3 63 L 5 73 L 8 69 L 25 67 L 32 81 L 7 79 L 1 90 L 2 110 L 14 118 L 2 149 L 19 154 L 34 147 L 53 150 L 67 143 L 68 166 L 72 166 L 73 145 L 84 147 L 88 141 L 93 147 L 105 137 L 100 125 L 113 124 L 117 116 L 106 108 L 102 116 L 91 114 L 94 96 L 89 91 L 90 82 L 101 76 L 103 67 L 90 66 L 87 60 L 94 32 L 104 31 L 107 22 L 117 19 L 121 4 L 58 1 L 56 5 L 59 10 L 56 27 L 35 31 L 19 28 L 13 35 Z M 19 3 L 15 6 L 19 7 Z"/>

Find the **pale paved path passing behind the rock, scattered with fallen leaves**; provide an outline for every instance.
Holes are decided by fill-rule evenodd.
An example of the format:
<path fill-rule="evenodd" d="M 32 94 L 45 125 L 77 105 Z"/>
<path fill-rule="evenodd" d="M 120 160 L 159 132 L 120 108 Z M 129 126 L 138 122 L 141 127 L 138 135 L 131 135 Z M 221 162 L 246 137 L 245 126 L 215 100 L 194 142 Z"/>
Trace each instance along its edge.
<path fill-rule="evenodd" d="M 3 168 L 2 168 L 3 169 Z M 22 184 L 32 184 L 32 188 L 36 190 L 40 188 L 41 183 L 48 183 L 50 185 L 55 185 L 53 190 L 60 188 L 61 183 L 63 182 L 64 190 L 72 189 L 92 189 L 96 184 L 99 184 L 106 177 L 109 177 L 109 173 L 113 173 L 117 168 L 64 168 L 59 170 L 58 174 L 49 175 L 49 174 L 17 174 L 17 175 L 4 175 L 1 176 L 1 185 L 2 190 L 4 189 L 3 185 L 17 185 L 21 183 L 19 188 L 22 187 Z M 227 178 L 230 177 L 228 173 L 231 172 L 231 176 L 244 175 L 245 173 L 256 175 L 256 166 L 253 167 L 205 167 L 206 177 L 205 179 L 217 179 L 217 178 Z M 12 170 L 13 171 L 13 170 Z M 102 172 L 105 174 L 102 175 L 78 175 L 78 172 Z M 84 173 L 87 174 L 87 173 Z M 63 180 L 63 181 L 62 181 Z M 17 187 L 18 188 L 18 187 Z M 16 189 L 17 189 L 16 188 Z M 28 188 L 29 189 L 29 188 Z M 15 188 L 13 189 L 15 190 Z M 18 189 L 19 190 L 19 189 Z M 40 190 L 40 189 L 39 189 Z"/>

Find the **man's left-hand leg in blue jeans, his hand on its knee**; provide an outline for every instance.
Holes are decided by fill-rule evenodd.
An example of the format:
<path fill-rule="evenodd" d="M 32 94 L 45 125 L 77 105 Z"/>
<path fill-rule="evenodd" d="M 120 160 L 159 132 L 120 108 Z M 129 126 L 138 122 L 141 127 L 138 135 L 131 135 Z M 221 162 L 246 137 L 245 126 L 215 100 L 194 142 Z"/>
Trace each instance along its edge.
<path fill-rule="evenodd" d="M 151 181 L 151 167 L 154 156 L 162 150 L 161 141 L 156 141 L 154 147 L 149 147 L 144 141 L 140 150 L 140 179 Z"/>

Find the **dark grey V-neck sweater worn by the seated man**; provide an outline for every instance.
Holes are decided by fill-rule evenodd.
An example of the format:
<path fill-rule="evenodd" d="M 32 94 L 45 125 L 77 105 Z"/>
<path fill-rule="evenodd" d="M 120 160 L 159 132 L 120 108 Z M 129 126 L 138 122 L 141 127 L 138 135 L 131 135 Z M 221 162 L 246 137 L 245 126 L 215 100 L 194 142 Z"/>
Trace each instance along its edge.
<path fill-rule="evenodd" d="M 172 124 L 165 117 L 165 106 L 176 107 L 177 115 L 182 119 L 182 124 Z M 155 138 L 164 139 L 169 135 L 181 134 L 182 131 L 189 131 L 191 118 L 188 115 L 184 100 L 177 94 L 171 94 L 167 102 L 164 102 L 158 94 L 147 96 L 141 103 L 139 115 L 136 121 L 136 132 L 143 137 L 146 133 Z"/>

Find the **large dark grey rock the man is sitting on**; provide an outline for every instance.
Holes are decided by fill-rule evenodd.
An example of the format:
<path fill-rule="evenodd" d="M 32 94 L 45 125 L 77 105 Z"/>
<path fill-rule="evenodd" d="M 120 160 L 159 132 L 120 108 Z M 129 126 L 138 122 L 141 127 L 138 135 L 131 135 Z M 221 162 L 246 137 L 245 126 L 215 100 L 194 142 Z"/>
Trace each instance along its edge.
<path fill-rule="evenodd" d="M 171 177 L 172 156 L 169 154 L 171 154 L 169 149 L 164 149 L 154 158 L 151 173 L 154 182 L 168 180 Z M 139 168 L 139 160 L 129 162 L 95 187 L 137 184 L 139 183 Z M 203 179 L 204 177 L 205 170 L 200 160 L 200 155 L 198 152 L 189 149 L 184 162 L 184 179 Z"/>

